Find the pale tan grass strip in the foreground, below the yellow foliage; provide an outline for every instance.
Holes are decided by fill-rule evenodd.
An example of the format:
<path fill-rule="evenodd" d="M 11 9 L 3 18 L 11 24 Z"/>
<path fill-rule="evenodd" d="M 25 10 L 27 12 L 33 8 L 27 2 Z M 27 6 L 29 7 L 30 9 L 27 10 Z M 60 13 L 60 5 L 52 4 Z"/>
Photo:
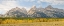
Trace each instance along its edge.
<path fill-rule="evenodd" d="M 59 22 L 22 23 L 22 24 L 0 24 L 0 26 L 64 26 L 64 21 L 59 21 Z"/>

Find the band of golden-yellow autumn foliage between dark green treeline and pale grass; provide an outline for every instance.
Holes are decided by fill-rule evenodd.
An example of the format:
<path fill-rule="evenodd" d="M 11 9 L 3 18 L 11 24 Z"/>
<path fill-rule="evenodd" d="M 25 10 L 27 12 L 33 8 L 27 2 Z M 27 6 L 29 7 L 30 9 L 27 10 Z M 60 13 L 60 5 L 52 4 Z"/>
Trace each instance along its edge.
<path fill-rule="evenodd" d="M 46 19 L 46 18 L 39 18 L 39 19 L 0 19 L 1 24 L 21 24 L 21 23 L 34 23 L 34 22 L 55 22 L 55 21 L 64 21 L 64 19 Z"/>

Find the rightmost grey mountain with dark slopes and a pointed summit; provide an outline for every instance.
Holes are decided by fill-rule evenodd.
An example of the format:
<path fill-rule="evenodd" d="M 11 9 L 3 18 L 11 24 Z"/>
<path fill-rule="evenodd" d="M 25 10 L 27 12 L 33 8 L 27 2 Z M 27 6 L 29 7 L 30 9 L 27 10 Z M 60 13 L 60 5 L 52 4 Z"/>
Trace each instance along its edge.
<path fill-rule="evenodd" d="M 64 10 L 58 9 L 58 8 L 53 8 L 52 6 L 46 7 L 45 13 L 48 17 L 64 17 Z"/>

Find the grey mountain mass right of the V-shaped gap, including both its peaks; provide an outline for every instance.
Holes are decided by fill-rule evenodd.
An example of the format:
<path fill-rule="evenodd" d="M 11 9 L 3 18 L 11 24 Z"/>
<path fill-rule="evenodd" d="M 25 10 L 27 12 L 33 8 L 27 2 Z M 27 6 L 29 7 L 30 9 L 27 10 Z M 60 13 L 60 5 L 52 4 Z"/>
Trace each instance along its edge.
<path fill-rule="evenodd" d="M 34 10 L 35 9 L 35 10 Z M 31 8 L 29 15 L 30 17 L 64 17 L 64 10 L 53 8 L 51 5 L 47 6 L 46 8 Z"/>

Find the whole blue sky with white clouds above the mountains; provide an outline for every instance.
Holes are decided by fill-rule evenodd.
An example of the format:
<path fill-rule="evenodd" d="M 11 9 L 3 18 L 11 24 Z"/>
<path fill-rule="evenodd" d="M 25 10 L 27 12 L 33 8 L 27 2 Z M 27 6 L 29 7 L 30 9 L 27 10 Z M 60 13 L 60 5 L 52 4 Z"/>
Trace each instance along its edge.
<path fill-rule="evenodd" d="M 0 14 L 5 14 L 15 7 L 29 10 L 33 5 L 43 8 L 51 5 L 54 8 L 64 9 L 64 0 L 0 0 Z"/>

